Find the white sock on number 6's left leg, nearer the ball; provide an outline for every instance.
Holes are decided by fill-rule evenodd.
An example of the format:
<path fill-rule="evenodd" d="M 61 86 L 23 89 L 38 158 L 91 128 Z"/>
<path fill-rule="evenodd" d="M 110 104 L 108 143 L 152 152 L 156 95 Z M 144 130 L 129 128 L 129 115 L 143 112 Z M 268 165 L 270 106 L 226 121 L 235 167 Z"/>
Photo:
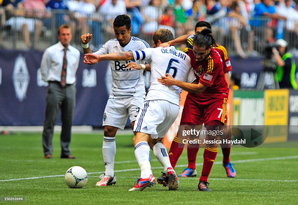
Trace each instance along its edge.
<path fill-rule="evenodd" d="M 136 144 L 134 154 L 136 155 L 136 161 L 138 161 L 141 169 L 141 178 L 148 178 L 152 174 L 150 165 L 151 153 L 148 142 L 139 142 Z"/>

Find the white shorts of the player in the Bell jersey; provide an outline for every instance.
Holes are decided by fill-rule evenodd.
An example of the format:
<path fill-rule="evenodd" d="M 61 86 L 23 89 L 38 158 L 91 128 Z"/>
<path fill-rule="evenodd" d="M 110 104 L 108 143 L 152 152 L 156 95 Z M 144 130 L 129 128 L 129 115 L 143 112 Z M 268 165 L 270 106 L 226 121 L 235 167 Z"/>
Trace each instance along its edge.
<path fill-rule="evenodd" d="M 142 97 L 126 97 L 120 99 L 108 99 L 103 114 L 103 126 L 110 125 L 124 129 L 127 117 L 131 122 L 136 120 L 140 107 L 144 102 Z"/>

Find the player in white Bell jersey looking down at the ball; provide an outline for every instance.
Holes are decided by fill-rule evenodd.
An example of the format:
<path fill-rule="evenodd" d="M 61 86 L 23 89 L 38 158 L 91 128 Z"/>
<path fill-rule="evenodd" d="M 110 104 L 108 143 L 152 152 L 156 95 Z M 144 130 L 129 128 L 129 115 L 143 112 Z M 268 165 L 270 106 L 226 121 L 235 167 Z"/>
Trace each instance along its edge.
<path fill-rule="evenodd" d="M 149 44 L 139 38 L 133 37 L 131 33 L 131 19 L 127 15 L 118 15 L 114 20 L 115 39 L 107 41 L 95 54 L 108 54 L 113 52 L 128 52 L 149 48 Z M 84 54 L 92 53 L 88 42 L 92 34 L 81 36 Z M 126 69 L 125 64 L 130 61 L 115 60 L 110 61 L 113 76 L 112 91 L 109 96 L 103 114 L 103 160 L 105 163 L 105 173 L 100 176 L 101 180 L 96 186 L 108 186 L 116 184 L 114 174 L 114 159 L 116 155 L 115 136 L 118 128 L 124 129 L 128 115 L 131 127 L 139 109 L 145 99 L 145 84 L 143 80 L 143 70 Z M 145 63 L 144 59 L 136 63 Z M 149 64 L 146 64 L 150 69 Z"/>

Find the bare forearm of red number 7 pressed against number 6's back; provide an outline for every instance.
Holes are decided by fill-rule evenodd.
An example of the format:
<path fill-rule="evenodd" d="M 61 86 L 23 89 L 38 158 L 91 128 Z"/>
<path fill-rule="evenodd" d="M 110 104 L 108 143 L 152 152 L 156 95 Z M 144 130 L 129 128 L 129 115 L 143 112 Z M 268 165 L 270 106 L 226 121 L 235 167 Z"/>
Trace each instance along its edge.
<path fill-rule="evenodd" d="M 207 86 L 203 85 L 202 83 L 198 83 L 198 80 L 195 80 L 192 83 L 182 82 L 180 80 L 176 80 L 170 74 L 166 74 L 166 76 L 162 76 L 161 78 L 157 79 L 157 81 L 165 86 L 178 86 L 183 90 L 195 94 L 199 94 L 204 92 Z"/>

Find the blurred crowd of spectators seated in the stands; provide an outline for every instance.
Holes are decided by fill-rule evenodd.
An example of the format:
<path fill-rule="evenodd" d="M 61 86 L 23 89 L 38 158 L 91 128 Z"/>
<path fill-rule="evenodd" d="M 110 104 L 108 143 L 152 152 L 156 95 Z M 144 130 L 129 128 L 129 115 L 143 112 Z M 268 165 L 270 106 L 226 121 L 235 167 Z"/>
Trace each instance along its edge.
<path fill-rule="evenodd" d="M 76 33 L 105 34 L 94 35 L 99 37 L 91 44 L 99 47 L 106 41 L 101 38 L 113 38 L 112 23 L 119 14 L 130 15 L 133 35 L 148 42 L 158 28 L 178 37 L 194 32 L 196 22 L 208 21 L 218 42 L 228 39 L 241 58 L 257 55 L 258 47 L 278 38 L 293 48 L 298 42 L 297 0 L 0 0 L 0 47 L 5 29 L 22 33 L 30 49 L 43 29 L 64 23 L 73 28 L 74 39 Z"/>

